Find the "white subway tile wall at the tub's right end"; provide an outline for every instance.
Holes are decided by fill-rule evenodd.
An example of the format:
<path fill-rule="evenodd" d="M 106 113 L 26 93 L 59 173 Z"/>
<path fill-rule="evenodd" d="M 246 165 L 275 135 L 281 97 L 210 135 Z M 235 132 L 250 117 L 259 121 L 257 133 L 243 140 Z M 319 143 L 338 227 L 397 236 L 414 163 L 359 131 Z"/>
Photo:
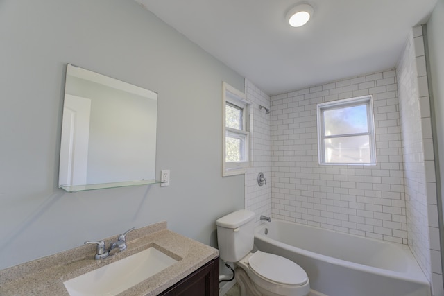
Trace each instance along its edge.
<path fill-rule="evenodd" d="M 436 178 L 422 26 L 412 29 L 397 68 L 409 246 L 443 295 Z"/>

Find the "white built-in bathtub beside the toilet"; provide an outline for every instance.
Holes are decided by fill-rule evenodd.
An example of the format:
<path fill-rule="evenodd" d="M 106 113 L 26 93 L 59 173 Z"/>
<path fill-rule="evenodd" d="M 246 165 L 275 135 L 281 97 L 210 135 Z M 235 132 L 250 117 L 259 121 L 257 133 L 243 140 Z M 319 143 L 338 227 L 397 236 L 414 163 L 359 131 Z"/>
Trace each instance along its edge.
<path fill-rule="evenodd" d="M 256 227 L 255 247 L 298 263 L 328 296 L 431 295 L 407 245 L 273 219 Z"/>

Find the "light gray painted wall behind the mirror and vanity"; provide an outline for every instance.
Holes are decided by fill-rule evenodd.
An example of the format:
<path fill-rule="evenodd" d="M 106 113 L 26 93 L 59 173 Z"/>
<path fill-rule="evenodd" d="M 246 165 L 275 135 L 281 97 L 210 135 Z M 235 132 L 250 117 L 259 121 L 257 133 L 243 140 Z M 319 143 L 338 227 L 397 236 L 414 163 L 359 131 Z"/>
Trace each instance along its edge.
<path fill-rule="evenodd" d="M 244 176 L 221 177 L 222 81 L 244 78 L 134 1 L 1 1 L 0 40 L 0 269 L 160 220 L 216 244 L 244 207 Z M 159 93 L 169 187 L 57 188 L 66 63 Z"/>

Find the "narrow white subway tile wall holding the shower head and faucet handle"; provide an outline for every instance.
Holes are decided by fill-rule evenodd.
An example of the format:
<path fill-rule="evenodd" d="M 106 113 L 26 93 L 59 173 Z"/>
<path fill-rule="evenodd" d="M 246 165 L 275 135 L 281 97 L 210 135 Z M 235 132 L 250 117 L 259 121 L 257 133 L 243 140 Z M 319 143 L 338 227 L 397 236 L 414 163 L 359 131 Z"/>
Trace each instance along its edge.
<path fill-rule="evenodd" d="M 271 216 L 271 114 L 259 110 L 270 109 L 270 97 L 249 80 L 245 80 L 245 94 L 252 102 L 250 108 L 250 168 L 245 175 L 245 208 L 254 211 L 256 224 L 259 216 Z M 257 175 L 264 173 L 267 183 L 257 184 Z"/>

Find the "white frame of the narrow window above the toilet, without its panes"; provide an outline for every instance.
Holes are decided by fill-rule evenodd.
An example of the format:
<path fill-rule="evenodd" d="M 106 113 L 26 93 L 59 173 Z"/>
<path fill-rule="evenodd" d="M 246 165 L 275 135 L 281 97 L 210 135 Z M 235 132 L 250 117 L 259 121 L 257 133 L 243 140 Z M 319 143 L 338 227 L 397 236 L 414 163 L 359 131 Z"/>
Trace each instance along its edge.
<path fill-rule="evenodd" d="M 226 105 L 233 105 L 234 107 L 242 110 L 242 129 L 237 130 L 235 128 L 226 127 Z M 250 105 L 251 103 L 246 99 L 246 95 L 235 89 L 228 83 L 223 82 L 223 140 L 222 140 L 222 175 L 240 175 L 247 171 L 250 167 Z M 226 139 L 227 133 L 238 135 L 239 137 L 245 138 L 245 145 L 243 153 L 246 157 L 246 161 L 243 162 L 227 162 L 226 161 Z"/>

